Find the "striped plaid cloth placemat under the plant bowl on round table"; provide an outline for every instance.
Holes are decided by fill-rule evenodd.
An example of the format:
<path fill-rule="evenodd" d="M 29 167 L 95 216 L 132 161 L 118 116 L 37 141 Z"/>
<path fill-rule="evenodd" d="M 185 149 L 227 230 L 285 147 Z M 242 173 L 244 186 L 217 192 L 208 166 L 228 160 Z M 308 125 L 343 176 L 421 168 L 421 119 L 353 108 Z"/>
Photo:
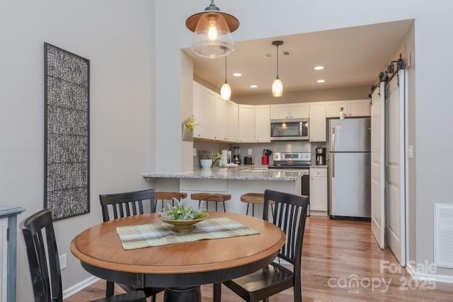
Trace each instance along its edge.
<path fill-rule="evenodd" d="M 195 229 L 190 233 L 177 233 L 173 231 L 173 226 L 164 222 L 139 226 L 118 226 L 116 231 L 125 250 L 258 234 L 258 231 L 253 228 L 248 228 L 248 226 L 227 217 L 208 218 L 200 221 L 195 224 Z"/>

